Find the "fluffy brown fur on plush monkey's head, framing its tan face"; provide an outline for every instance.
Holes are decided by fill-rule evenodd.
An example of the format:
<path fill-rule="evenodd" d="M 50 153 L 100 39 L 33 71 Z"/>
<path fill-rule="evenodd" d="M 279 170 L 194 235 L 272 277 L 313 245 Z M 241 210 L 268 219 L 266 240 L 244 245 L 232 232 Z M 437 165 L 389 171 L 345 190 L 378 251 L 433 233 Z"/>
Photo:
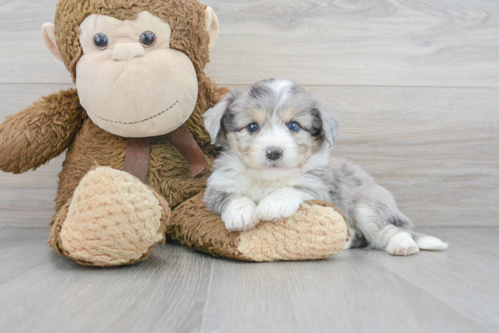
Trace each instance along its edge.
<path fill-rule="evenodd" d="M 205 30 L 205 5 L 185 0 L 61 0 L 57 5 L 57 46 L 64 64 L 76 80 L 76 63 L 83 54 L 78 40 L 79 25 L 92 14 L 102 14 L 119 20 L 133 20 L 148 11 L 168 22 L 172 28 L 170 47 L 185 53 L 194 64 L 198 80 L 209 62 L 208 33 Z"/>

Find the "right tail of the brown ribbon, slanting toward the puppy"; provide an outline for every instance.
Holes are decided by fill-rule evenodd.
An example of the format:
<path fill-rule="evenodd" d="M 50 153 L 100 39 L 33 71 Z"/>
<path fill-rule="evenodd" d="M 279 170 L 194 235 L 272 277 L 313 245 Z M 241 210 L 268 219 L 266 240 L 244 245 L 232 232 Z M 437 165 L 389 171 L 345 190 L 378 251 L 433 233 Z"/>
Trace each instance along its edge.
<path fill-rule="evenodd" d="M 189 163 L 191 177 L 194 178 L 208 166 L 208 161 L 198 143 L 185 125 L 180 126 L 166 135 L 170 143 L 177 148 L 183 158 Z"/>

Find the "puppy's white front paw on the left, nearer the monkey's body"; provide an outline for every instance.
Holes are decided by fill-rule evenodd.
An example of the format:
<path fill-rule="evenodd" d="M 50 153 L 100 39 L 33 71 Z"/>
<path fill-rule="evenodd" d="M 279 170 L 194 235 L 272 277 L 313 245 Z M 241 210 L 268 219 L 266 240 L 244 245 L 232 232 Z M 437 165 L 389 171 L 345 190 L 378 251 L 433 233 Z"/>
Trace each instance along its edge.
<path fill-rule="evenodd" d="M 233 199 L 221 215 L 229 231 L 244 231 L 254 228 L 259 220 L 257 205 L 250 198 Z"/>

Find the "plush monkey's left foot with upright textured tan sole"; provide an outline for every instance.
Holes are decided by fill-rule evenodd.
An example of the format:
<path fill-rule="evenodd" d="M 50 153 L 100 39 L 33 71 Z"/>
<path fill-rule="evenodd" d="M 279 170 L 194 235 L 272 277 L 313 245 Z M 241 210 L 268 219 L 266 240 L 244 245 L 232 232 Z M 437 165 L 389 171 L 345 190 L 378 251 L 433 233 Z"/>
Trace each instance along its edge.
<path fill-rule="evenodd" d="M 164 244 L 170 215 L 168 203 L 137 178 L 97 167 L 54 215 L 47 243 L 85 265 L 133 264 Z"/>

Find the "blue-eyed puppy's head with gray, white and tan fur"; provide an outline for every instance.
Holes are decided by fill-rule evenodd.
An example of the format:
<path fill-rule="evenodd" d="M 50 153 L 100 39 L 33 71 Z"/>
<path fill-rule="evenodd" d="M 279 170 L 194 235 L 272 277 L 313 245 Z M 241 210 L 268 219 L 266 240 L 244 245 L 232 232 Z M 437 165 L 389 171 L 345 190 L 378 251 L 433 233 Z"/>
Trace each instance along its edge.
<path fill-rule="evenodd" d="M 257 170 L 300 168 L 334 144 L 340 130 L 338 119 L 305 90 L 278 79 L 232 92 L 203 117 L 212 143 Z"/>

